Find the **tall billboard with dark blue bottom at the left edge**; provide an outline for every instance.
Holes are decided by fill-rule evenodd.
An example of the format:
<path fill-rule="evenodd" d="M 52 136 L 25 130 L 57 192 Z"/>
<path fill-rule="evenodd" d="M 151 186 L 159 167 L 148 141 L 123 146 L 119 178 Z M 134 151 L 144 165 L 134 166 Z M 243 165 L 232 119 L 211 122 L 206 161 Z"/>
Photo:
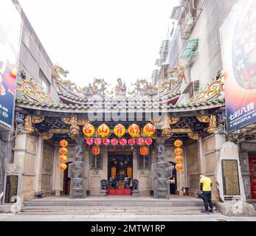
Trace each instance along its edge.
<path fill-rule="evenodd" d="M 0 123 L 13 123 L 21 17 L 10 0 L 0 2 Z"/>

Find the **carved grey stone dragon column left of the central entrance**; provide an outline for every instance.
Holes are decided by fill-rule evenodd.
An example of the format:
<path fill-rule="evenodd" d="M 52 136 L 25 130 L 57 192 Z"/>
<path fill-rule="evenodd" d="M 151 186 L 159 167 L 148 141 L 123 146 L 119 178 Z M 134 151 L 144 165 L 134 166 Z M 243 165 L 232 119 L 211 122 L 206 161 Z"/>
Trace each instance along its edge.
<path fill-rule="evenodd" d="M 69 165 L 69 178 L 71 178 L 70 198 L 86 198 L 86 172 L 89 164 L 83 162 L 84 140 L 76 139 L 75 162 Z"/>

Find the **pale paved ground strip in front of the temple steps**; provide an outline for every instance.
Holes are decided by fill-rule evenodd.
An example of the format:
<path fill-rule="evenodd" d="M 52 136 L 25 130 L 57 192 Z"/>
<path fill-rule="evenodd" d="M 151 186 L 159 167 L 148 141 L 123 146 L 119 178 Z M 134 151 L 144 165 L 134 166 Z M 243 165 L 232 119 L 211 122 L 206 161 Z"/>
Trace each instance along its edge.
<path fill-rule="evenodd" d="M 226 217 L 219 213 L 198 215 L 49 215 L 49 214 L 0 214 L 0 221 L 256 221 L 256 217 Z"/>

